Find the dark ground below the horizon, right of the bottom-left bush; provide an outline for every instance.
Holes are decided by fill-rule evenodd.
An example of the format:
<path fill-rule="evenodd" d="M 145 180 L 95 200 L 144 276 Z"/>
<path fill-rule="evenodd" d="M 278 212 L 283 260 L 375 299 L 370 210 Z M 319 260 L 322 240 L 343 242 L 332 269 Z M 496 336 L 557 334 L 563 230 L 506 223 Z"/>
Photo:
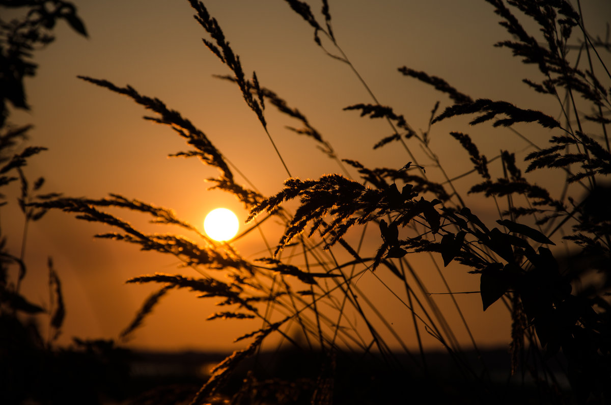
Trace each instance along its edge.
<path fill-rule="evenodd" d="M 327 384 L 335 404 L 542 404 L 562 403 L 558 395 L 537 389 L 527 375 L 509 376 L 507 350 L 427 352 L 426 370 L 407 354 L 392 360 L 376 355 L 338 355 L 335 362 L 311 352 L 263 352 L 247 360 L 227 382 L 221 398 L 240 393 L 240 404 L 310 404 L 313 392 Z M 134 352 L 131 354 L 130 404 L 189 402 L 223 354 Z M 468 364 L 469 369 L 457 363 Z M 552 360 L 554 363 L 554 360 Z M 554 368 L 560 390 L 568 383 Z M 565 398 L 566 403 L 572 403 Z"/>

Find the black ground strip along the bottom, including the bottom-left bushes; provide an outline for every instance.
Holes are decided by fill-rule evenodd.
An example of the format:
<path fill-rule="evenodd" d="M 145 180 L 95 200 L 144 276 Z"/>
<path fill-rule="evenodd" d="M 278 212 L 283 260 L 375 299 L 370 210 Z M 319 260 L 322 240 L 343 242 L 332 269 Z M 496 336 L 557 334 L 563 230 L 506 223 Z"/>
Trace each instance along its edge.
<path fill-rule="evenodd" d="M 78 343 L 70 349 L 45 351 L 24 347 L 12 359 L 13 381 L 5 403 L 41 404 L 189 404 L 226 356 L 204 352 L 130 352 L 109 341 Z M 486 368 L 481 367 L 479 356 Z M 329 362 L 321 352 L 260 352 L 245 360 L 208 401 L 214 404 L 552 404 L 574 403 L 563 379 L 566 365 L 551 371 L 557 390 L 546 392 L 528 374 L 507 377 L 507 349 L 461 354 L 473 366 L 464 374 L 447 352 L 426 352 L 423 373 L 406 354 L 393 365 L 381 359 L 339 352 Z M 321 374 L 321 364 L 326 373 Z M 18 378 L 15 378 L 18 377 Z M 27 401 L 26 401 L 27 399 Z"/>

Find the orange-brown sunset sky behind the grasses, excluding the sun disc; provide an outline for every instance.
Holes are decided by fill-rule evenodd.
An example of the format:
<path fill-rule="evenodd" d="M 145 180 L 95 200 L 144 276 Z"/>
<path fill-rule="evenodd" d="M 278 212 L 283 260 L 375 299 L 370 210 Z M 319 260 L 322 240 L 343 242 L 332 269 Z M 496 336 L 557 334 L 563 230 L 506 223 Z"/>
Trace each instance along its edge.
<path fill-rule="evenodd" d="M 141 199 L 172 208 L 178 217 L 200 227 L 205 214 L 216 207 L 227 207 L 241 221 L 246 219 L 248 213 L 233 196 L 207 190 L 205 179 L 216 176 L 215 169 L 193 159 L 167 158 L 168 154 L 186 149 L 172 130 L 144 121 L 144 109 L 131 100 L 76 78 L 85 75 L 118 86 L 130 84 L 141 94 L 160 98 L 203 130 L 263 194 L 281 189 L 287 177 L 282 163 L 238 89 L 213 77 L 230 72 L 203 45 L 201 38 L 208 39 L 207 33 L 192 18 L 188 2 L 73 3 L 89 38 L 60 23 L 55 31 L 56 42 L 34 56 L 39 69 L 34 78 L 26 81 L 32 110 L 15 111 L 12 115 L 17 124 L 34 124 L 31 144 L 49 149 L 29 162 L 26 173 L 31 179 L 45 176 L 46 191 L 66 196 L 102 198 L 118 193 Z M 521 83 L 525 77 L 540 79 L 535 67 L 523 65 L 508 50 L 492 46 L 508 39 L 508 34 L 485 1 L 329 3 L 335 36 L 354 67 L 381 104 L 393 106 L 417 130 L 426 129 L 437 100 L 442 108 L 449 101 L 431 87 L 402 76 L 398 67 L 440 76 L 474 98 L 506 100 L 557 114 L 553 103 Z M 205 4 L 240 55 L 247 75 L 256 71 L 262 86 L 299 108 L 341 158 L 359 160 L 365 166 L 395 168 L 408 162 L 409 157 L 397 147 L 372 149 L 379 139 L 391 135 L 385 122 L 342 111 L 348 105 L 371 103 L 371 99 L 346 64 L 329 58 L 316 46 L 312 28 L 287 3 L 214 0 Z M 309 4 L 322 22 L 320 3 Z M 604 36 L 602 18 L 611 16 L 611 3 L 584 0 L 582 7 L 591 34 Z M 293 176 L 316 179 L 338 171 L 337 164 L 321 154 L 311 139 L 284 128 L 297 125 L 295 121 L 272 108 L 266 110 L 266 118 L 269 133 Z M 469 133 L 488 156 L 498 154 L 500 149 L 516 152 L 519 157 L 529 152 L 527 144 L 507 130 L 484 125 L 468 127 L 467 122 L 441 122 L 431 132 L 431 147 L 448 173 L 459 174 L 470 168 L 466 152 L 447 135 L 450 130 Z M 528 127 L 521 129 L 529 133 Z M 541 142 L 549 136 L 530 135 L 539 136 Z M 423 157 L 422 152 L 417 153 Z M 433 169 L 429 172 L 435 176 Z M 552 187 L 557 182 L 552 177 L 535 179 Z M 458 183 L 463 189 L 469 185 L 468 180 Z M 471 203 L 483 211 L 491 209 L 490 201 L 473 198 Z M 13 230 L 9 247 L 16 250 L 20 248 L 23 218 L 9 209 L 4 212 L 8 215 L 3 214 L 3 226 Z M 117 214 L 141 228 L 155 229 L 145 223 L 145 218 Z M 188 271 L 177 269 L 177 260 L 170 257 L 93 238 L 106 231 L 109 229 L 62 212 L 50 212 L 29 228 L 29 274 L 23 292 L 33 302 L 48 306 L 45 263 L 52 256 L 67 307 L 60 344 L 69 343 L 72 336 L 116 338 L 142 300 L 155 290 L 155 286 L 125 284 L 126 279 L 143 273 Z M 235 243 L 236 249 L 249 259 L 265 255 L 265 243 L 252 233 Z M 269 228 L 269 240 L 275 243 L 279 237 L 277 227 Z M 378 244 L 379 235 L 371 234 L 367 248 L 375 252 Z M 416 259 L 415 264 L 420 262 Z M 419 271 L 429 291 L 443 292 L 439 277 L 424 267 L 424 262 L 422 266 Z M 465 269 L 450 266 L 444 272 L 453 291 L 478 290 L 478 277 L 467 274 Z M 197 277 L 197 273 L 185 275 Z M 396 311 L 397 302 L 377 283 L 370 275 L 359 280 L 359 286 L 377 297 L 379 308 L 388 318 L 398 324 L 404 322 L 398 328 L 410 333 L 406 319 L 411 318 Z M 457 299 L 477 341 L 484 346 L 508 344 L 510 319 L 502 305 L 497 303 L 482 312 L 478 294 L 458 295 Z M 437 295 L 436 300 L 447 311 L 448 319 L 458 322 L 448 296 Z M 231 343 L 233 338 L 260 327 L 252 322 L 205 321 L 218 309 L 213 301 L 204 301 L 188 291 L 173 291 L 137 330 L 130 344 L 148 349 L 227 351 L 241 347 Z M 454 325 L 459 341 L 466 343 L 466 332 L 459 323 Z M 437 347 L 432 340 L 426 344 Z"/>

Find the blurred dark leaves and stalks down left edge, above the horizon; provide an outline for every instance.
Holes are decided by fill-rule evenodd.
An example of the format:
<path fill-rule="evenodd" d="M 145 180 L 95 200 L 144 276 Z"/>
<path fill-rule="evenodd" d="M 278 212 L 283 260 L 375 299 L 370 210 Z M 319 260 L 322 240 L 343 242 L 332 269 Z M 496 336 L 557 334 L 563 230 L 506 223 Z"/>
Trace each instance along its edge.
<path fill-rule="evenodd" d="M 57 193 L 40 193 L 45 183 L 43 177 L 39 177 L 34 184 L 29 184 L 23 171 L 27 160 L 32 156 L 46 150 L 45 147 L 24 146 L 27 132 L 31 125 L 17 126 L 7 122 L 7 103 L 20 109 L 28 109 L 23 80 L 26 76 L 34 76 L 37 65 L 32 62 L 32 52 L 53 42 L 51 29 L 53 29 L 59 18 L 64 18 L 75 31 L 87 35 L 84 25 L 73 4 L 63 1 L 8 1 L 0 2 L 0 7 L 18 9 L 26 8 L 26 15 L 20 20 L 4 21 L 0 19 L 0 187 L 19 180 L 21 184 L 20 196 L 17 202 L 24 214 L 23 239 L 21 252 L 13 255 L 6 250 L 7 236 L 0 228 L 0 313 L 7 322 L 19 322 L 15 318 L 16 313 L 35 314 L 43 312 L 43 308 L 29 302 L 20 295 L 20 285 L 26 276 L 26 264 L 24 263 L 24 250 L 27 237 L 27 226 L 31 221 L 38 221 L 47 212 L 44 208 L 32 206 L 32 203 L 46 201 L 60 196 Z M 50 9 L 49 9 L 50 7 Z M 21 150 L 21 151 L 18 151 Z M 0 206 L 9 202 L 7 196 L 0 194 Z M 10 280 L 9 268 L 16 267 L 16 280 Z M 64 319 L 64 303 L 62 300 L 61 284 L 57 273 L 53 268 L 51 259 L 48 262 L 49 287 L 54 300 L 54 311 L 51 314 L 49 335 L 51 341 L 56 340 L 59 329 Z M 33 327 L 34 325 L 31 325 Z M 8 329 L 10 330 L 10 328 Z M 3 328 L 4 332 L 4 328 Z M 31 336 L 34 341 L 43 341 L 38 335 L 37 329 L 32 329 Z M 4 345 L 2 345 L 4 347 Z M 42 348 L 42 347 L 41 347 Z"/>

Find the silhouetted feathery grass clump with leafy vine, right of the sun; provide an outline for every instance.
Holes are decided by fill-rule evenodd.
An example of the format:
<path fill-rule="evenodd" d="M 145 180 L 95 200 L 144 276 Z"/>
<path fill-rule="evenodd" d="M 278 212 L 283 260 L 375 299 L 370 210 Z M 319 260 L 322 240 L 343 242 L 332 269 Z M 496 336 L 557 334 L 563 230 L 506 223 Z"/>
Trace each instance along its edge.
<path fill-rule="evenodd" d="M 522 370 L 522 373 L 532 374 L 541 393 L 548 395 L 544 399 L 540 397 L 541 400 L 563 400 L 558 393 L 560 388 L 556 376 L 547 362 L 562 352 L 573 388 L 573 396 L 569 396 L 569 399 L 576 398 L 580 402 L 609 401 L 611 216 L 607 209 L 610 187 L 606 184 L 606 176 L 611 173 L 611 149 L 606 125 L 611 123 L 607 117 L 611 110 L 611 75 L 598 55 L 599 48 L 609 50 L 609 43 L 593 40 L 588 35 L 583 26 L 579 1 L 578 10 L 564 0 L 487 1 L 502 18 L 500 24 L 513 35 L 513 40 L 501 41 L 497 46 L 510 48 L 524 63 L 538 66 L 543 80 L 537 82 L 525 79 L 524 83 L 557 100 L 558 108 L 565 118 L 563 124 L 560 122 L 562 120 L 558 121 L 549 113 L 521 108 L 500 100 L 470 97 L 441 78 L 409 67 L 400 67 L 398 71 L 404 76 L 434 86 L 452 100 L 453 104 L 441 113 L 437 113 L 439 103 L 436 103 L 428 119 L 429 129 L 439 121 L 472 114 L 476 116 L 470 125 L 491 123 L 492 127 L 512 127 L 520 122 L 546 130 L 552 129 L 549 138 L 551 146 L 536 146 L 529 141 L 536 150 L 526 157 L 528 166 L 525 173 L 541 169 L 561 170 L 566 175 L 566 187 L 578 185 L 580 190 L 586 191 L 585 198 L 571 197 L 566 190 L 560 196 L 552 196 L 545 187 L 533 183 L 522 174 L 511 151 L 502 150 L 498 156 L 488 158 L 480 153 L 472 138 L 464 132 L 451 132 L 449 135 L 466 150 L 473 169 L 450 179 L 439 158 L 430 149 L 429 131 L 416 132 L 403 115 L 389 106 L 381 105 L 360 78 L 334 37 L 326 0 L 322 2 L 321 11 L 324 24 L 318 23 L 305 2 L 287 0 L 287 3 L 312 26 L 316 44 L 332 58 L 347 64 L 367 88 L 373 101 L 347 106 L 345 110 L 359 111 L 361 116 L 382 118 L 388 122 L 393 134 L 382 138 L 374 148 L 400 143 L 406 150 L 406 160 L 409 160 L 402 168 L 371 169 L 356 160 L 338 160 L 332 146 L 299 110 L 288 106 L 276 92 L 263 87 L 255 73 L 251 80 L 247 78 L 240 58 L 225 39 L 218 21 L 210 16 L 202 2 L 196 0 L 189 0 L 189 3 L 196 11 L 197 22 L 210 35 L 211 40 L 203 39 L 205 46 L 233 72 L 233 76 L 221 77 L 237 84 L 247 106 L 257 115 L 274 148 L 276 146 L 266 124 L 266 102 L 300 121 L 302 128 L 290 129 L 312 137 L 321 145 L 325 154 L 338 160 L 347 177 L 328 174 L 317 180 L 296 179 L 291 177 L 276 149 L 289 178 L 276 195 L 262 196 L 254 187 L 238 184 L 230 166 L 208 136 L 157 98 L 141 95 L 130 86 L 120 87 L 106 80 L 80 76 L 90 83 L 132 98 L 156 114 L 145 119 L 169 125 L 185 138 L 194 149 L 175 156 L 199 157 L 203 163 L 216 167 L 219 177 L 208 180 L 213 188 L 233 193 L 240 199 L 251 210 L 249 221 L 265 214 L 285 223 L 284 235 L 275 251 L 270 252 L 270 257 L 248 261 L 238 255 L 231 245 L 208 239 L 194 226 L 175 218 L 170 210 L 142 201 L 111 195 L 111 198 L 104 199 L 57 198 L 34 204 L 43 209 L 74 212 L 78 218 L 115 226 L 120 232 L 101 234 L 98 237 L 136 243 L 142 250 L 169 253 L 201 274 L 200 278 L 155 274 L 129 280 L 131 283 L 161 283 L 163 287 L 144 303 L 134 322 L 125 330 L 125 336 L 141 324 L 144 316 L 152 311 L 164 294 L 174 288 L 189 288 L 197 292 L 199 297 L 218 297 L 221 299 L 218 305 L 233 305 L 236 308 L 235 311 L 225 310 L 214 314 L 210 319 L 262 319 L 261 329 L 238 338 L 253 340 L 245 349 L 236 351 L 215 368 L 213 376 L 203 385 L 192 401 L 193 404 L 204 403 L 218 392 L 222 382 L 227 380 L 238 363 L 257 351 L 271 333 L 279 333 L 298 346 L 321 350 L 328 356 L 327 359 L 332 357 L 332 353 L 342 350 L 373 355 L 372 347 L 375 347 L 382 361 L 392 367 L 396 359 L 393 359 L 393 352 L 373 325 L 372 319 L 376 317 L 376 322 L 382 322 L 393 333 L 421 370 L 426 372 L 427 368 L 420 341 L 420 333 L 424 328 L 447 348 L 456 363 L 464 367 L 466 374 L 474 374 L 461 356 L 452 329 L 448 327 L 443 314 L 406 258 L 408 253 L 430 255 L 431 266 L 437 269 L 444 283 L 442 270 L 434 259 L 437 254 L 441 255 L 444 266 L 456 261 L 466 266 L 470 273 L 480 275 L 483 310 L 502 300 L 511 312 L 512 364 L 508 373 Z M 525 16 L 520 18 L 530 18 L 538 25 L 543 42 L 523 28 L 520 18 L 516 17 L 516 10 Z M 568 50 L 575 46 L 569 43 L 576 36 L 575 32 L 584 37 L 577 46 L 580 55 L 585 53 L 586 56 L 572 62 L 568 58 Z M 323 45 L 321 36 L 326 37 L 325 43 L 331 45 L 333 50 Z M 585 68 L 582 67 L 584 61 L 588 64 Z M 597 77 L 594 64 L 602 67 L 606 75 Z M 583 100 L 577 100 L 577 95 Z M 590 103 L 593 113 L 585 116 L 580 114 L 578 103 Z M 570 113 L 576 124 L 569 121 Z M 585 130 L 586 124 L 589 125 L 588 131 Z M 512 130 L 522 139 L 527 139 L 513 127 Z M 599 135 L 588 135 L 592 131 Z M 431 169 L 426 173 L 412 154 L 411 147 L 414 145 L 425 150 L 431 163 L 427 168 L 432 167 L 433 172 L 438 171 L 444 180 L 439 182 L 427 177 L 431 175 Z M 502 169 L 501 177 L 494 178 L 492 175 L 497 171 L 491 171 L 491 163 L 494 161 Z M 360 178 L 350 178 L 342 162 L 356 169 Z M 455 180 L 470 174 L 481 179 L 472 180 L 473 185 L 466 192 L 480 193 L 485 198 L 494 199 L 499 207 L 496 224 L 486 224 L 481 220 L 478 213 L 466 206 L 461 193 L 456 190 Z M 577 195 L 577 191 L 571 189 L 571 194 Z M 299 206 L 291 214 L 288 209 L 284 209 L 283 204 L 293 199 L 299 200 Z M 503 199 L 507 201 L 504 206 Z M 103 211 L 105 207 L 111 206 L 139 211 L 152 215 L 155 222 L 178 225 L 196 232 L 200 242 L 175 235 L 137 231 L 125 221 Z M 349 229 L 372 222 L 380 229 L 381 245 L 377 251 L 362 253 L 360 247 L 355 248 L 343 239 Z M 256 226 L 255 223 L 253 227 Z M 559 237 L 561 230 L 564 236 Z M 572 243 L 574 248 L 567 264 L 560 264 L 560 253 L 548 247 L 560 240 Z M 289 245 L 301 246 L 302 263 L 288 264 L 282 260 L 282 251 Z M 345 262 L 339 262 L 336 255 L 331 255 L 337 245 L 349 255 Z M 314 272 L 313 263 L 321 270 Z M 372 272 L 378 277 L 376 272 L 386 271 L 380 270 L 381 267 L 389 270 L 400 281 L 395 288 L 383 284 L 389 294 L 401 300 L 413 318 L 420 345 L 420 359 L 411 354 L 404 339 L 397 335 L 392 325 L 384 319 L 384 314 L 376 310 L 356 285 L 355 281 L 364 272 Z M 229 277 L 229 281 L 220 280 L 217 270 L 224 270 L 222 274 Z M 576 289 L 576 281 L 588 282 L 587 273 L 590 271 L 600 273 L 603 281 L 588 288 Z M 298 290 L 296 286 L 304 288 Z M 403 289 L 406 300 L 397 295 Z M 449 287 L 448 293 L 454 294 Z M 329 304 L 335 313 L 321 310 L 322 302 Z M 462 316 L 458 303 L 454 302 Z M 359 333 L 351 323 L 346 315 L 347 306 L 352 307 L 365 322 L 368 335 Z M 373 315 L 368 315 L 370 313 Z M 287 333 L 287 325 L 293 321 L 303 332 L 303 343 L 296 342 Z M 473 343 L 477 350 L 476 342 Z M 329 362 L 327 367 L 333 368 L 334 364 Z M 327 383 L 332 374 L 328 368 L 324 373 L 321 371 L 320 381 L 326 382 L 321 382 L 319 389 L 313 393 L 312 398 L 315 398 L 316 403 L 326 403 L 324 401 L 331 398 L 332 388 Z M 481 388 L 489 388 L 487 377 L 475 378 L 481 382 Z M 248 384 L 257 384 L 257 381 L 251 379 Z M 336 399 L 342 401 L 341 398 Z M 236 403 L 243 400 L 244 392 L 238 392 Z"/>

